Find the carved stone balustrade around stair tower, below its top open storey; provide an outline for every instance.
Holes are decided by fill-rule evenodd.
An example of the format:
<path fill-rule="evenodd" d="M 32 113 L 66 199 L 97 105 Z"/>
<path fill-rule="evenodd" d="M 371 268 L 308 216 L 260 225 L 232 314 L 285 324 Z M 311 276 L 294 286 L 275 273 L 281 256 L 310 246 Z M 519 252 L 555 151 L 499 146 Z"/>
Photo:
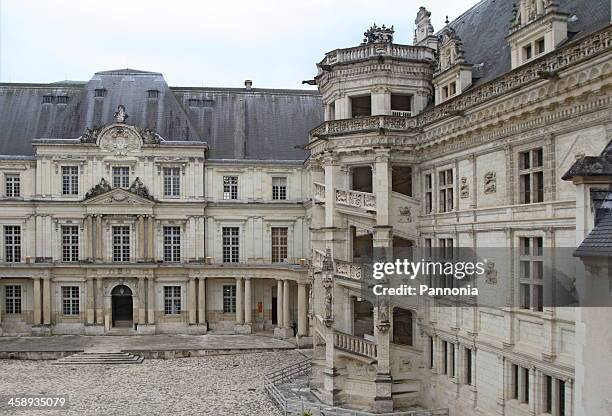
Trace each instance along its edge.
<path fill-rule="evenodd" d="M 405 116 L 368 116 L 325 121 L 310 131 L 310 140 L 317 137 L 378 131 L 406 131 L 416 127 L 416 119 Z"/>

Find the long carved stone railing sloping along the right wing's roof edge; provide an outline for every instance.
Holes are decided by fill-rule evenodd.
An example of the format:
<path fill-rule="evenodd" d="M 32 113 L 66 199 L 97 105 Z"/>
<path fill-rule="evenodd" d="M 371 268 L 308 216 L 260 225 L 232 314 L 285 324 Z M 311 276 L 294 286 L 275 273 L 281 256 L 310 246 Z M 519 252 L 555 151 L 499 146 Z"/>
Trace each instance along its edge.
<path fill-rule="evenodd" d="M 470 92 L 461 94 L 447 103 L 438 105 L 429 111 L 420 113 L 417 126 L 434 123 L 449 115 L 457 114 L 473 105 L 519 89 L 524 85 L 542 79 L 547 74 L 556 72 L 589 59 L 612 47 L 612 25 L 589 36 L 568 43 L 566 46 L 551 52 L 530 64 L 495 78 Z"/>

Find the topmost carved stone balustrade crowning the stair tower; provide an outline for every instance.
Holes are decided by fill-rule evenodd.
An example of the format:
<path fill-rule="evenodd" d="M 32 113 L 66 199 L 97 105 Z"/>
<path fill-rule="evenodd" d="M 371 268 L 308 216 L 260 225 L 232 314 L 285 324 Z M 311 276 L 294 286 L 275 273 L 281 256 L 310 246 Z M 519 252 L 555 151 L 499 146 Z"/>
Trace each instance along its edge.
<path fill-rule="evenodd" d="M 379 56 L 428 61 L 433 61 L 434 59 L 433 50 L 429 48 L 396 45 L 393 43 L 371 43 L 328 52 L 319 65 L 337 65 L 369 58 L 378 58 Z"/>

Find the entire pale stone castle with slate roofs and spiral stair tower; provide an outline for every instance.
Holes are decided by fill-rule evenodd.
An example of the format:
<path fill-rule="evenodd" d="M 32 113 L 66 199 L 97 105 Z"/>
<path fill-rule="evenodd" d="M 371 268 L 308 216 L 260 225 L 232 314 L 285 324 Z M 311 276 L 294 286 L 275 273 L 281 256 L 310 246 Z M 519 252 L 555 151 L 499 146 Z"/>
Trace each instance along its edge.
<path fill-rule="evenodd" d="M 325 54 L 318 92 L 0 85 L 0 333 L 273 330 L 312 337 L 328 404 L 606 415 L 584 383 L 605 312 L 546 304 L 542 252 L 602 232 L 612 175 L 575 162 L 609 168 L 610 21 L 483 0 L 436 32 L 421 8 L 412 45 L 374 26 Z M 457 247 L 508 250 L 503 305 L 363 296 L 365 264 Z"/>

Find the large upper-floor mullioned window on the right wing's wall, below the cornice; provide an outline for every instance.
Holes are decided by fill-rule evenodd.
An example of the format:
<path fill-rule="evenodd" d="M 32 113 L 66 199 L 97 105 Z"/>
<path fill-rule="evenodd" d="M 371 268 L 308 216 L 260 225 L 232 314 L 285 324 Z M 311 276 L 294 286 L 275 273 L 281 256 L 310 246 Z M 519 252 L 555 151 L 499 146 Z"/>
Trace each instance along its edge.
<path fill-rule="evenodd" d="M 519 153 L 521 204 L 544 201 L 544 159 L 542 148 Z"/>

